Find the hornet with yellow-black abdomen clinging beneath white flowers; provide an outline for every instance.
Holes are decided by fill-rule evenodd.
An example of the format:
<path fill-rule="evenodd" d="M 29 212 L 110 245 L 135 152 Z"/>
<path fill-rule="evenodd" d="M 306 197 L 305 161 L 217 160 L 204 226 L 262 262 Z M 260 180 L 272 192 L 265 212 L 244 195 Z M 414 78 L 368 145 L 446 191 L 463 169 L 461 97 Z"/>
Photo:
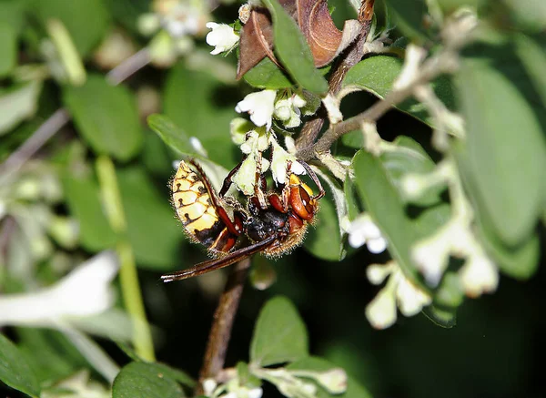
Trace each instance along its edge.
<path fill-rule="evenodd" d="M 202 275 L 258 252 L 278 257 L 298 246 L 319 210 L 319 199 L 325 195 L 313 170 L 307 164 L 301 164 L 319 188 L 318 195 L 313 195 L 308 185 L 290 172 L 288 162 L 287 183 L 280 194 L 266 194 L 266 180 L 257 174 L 256 194 L 248 197 L 244 207 L 238 200 L 225 197 L 240 164 L 227 175 L 217 194 L 195 160 L 182 160 L 170 184 L 173 206 L 188 238 L 203 244 L 216 258 L 163 275 L 162 281 Z M 246 243 L 233 250 L 239 240 L 246 240 Z"/>

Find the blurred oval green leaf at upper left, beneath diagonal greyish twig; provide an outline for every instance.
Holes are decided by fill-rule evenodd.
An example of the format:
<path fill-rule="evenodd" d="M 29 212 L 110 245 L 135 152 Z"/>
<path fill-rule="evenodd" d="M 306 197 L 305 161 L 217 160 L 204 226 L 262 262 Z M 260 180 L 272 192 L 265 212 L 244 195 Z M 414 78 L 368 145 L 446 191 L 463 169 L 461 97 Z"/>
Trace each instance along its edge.
<path fill-rule="evenodd" d="M 66 87 L 66 107 L 78 131 L 98 154 L 122 161 L 133 158 L 142 145 L 136 101 L 126 87 L 111 86 L 90 75 L 81 87 Z"/>

